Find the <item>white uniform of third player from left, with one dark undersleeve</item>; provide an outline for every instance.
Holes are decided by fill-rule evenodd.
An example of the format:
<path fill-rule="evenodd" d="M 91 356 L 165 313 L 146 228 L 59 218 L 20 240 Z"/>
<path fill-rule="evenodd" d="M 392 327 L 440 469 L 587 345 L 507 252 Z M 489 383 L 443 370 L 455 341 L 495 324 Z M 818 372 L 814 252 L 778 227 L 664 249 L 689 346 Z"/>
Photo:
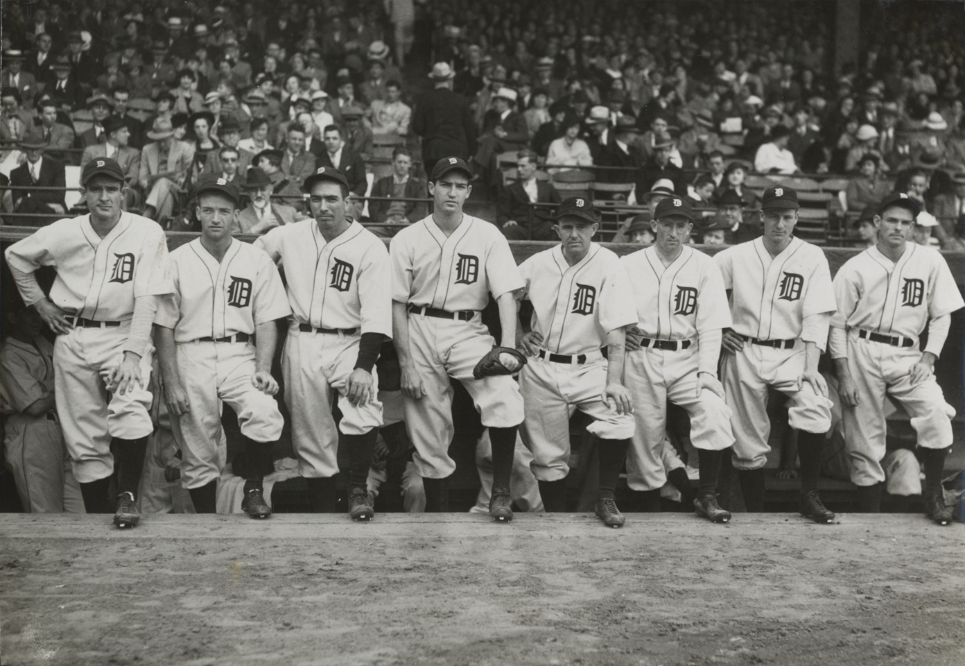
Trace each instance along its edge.
<path fill-rule="evenodd" d="M 365 434 L 382 425 L 382 403 L 352 405 L 345 381 L 355 369 L 363 333 L 392 338 L 392 290 L 385 243 L 358 222 L 331 242 L 314 219 L 272 229 L 255 241 L 285 270 L 292 319 L 282 374 L 299 473 L 339 472 L 339 432 Z M 324 329 L 321 330 L 321 329 Z M 378 377 L 372 369 L 378 390 Z M 342 421 L 332 418 L 333 389 Z"/>

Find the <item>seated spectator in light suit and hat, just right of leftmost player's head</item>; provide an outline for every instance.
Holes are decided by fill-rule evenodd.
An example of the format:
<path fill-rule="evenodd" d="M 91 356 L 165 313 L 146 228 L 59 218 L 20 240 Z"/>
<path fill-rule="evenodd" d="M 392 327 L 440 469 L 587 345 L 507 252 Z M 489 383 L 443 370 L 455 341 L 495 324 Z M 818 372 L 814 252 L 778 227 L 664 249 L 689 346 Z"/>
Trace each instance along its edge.
<path fill-rule="evenodd" d="M 144 216 L 162 222 L 171 217 L 175 197 L 187 178 L 194 146 L 174 138 L 171 121 L 159 118 L 148 132 L 152 143 L 141 152 L 138 181 L 147 192 Z"/>

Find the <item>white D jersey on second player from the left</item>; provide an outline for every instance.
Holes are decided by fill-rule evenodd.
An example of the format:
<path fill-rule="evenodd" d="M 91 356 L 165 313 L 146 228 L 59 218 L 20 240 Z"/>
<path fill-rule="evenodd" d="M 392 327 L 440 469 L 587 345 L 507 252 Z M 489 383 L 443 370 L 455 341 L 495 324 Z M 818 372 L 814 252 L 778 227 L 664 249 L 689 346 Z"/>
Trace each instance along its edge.
<path fill-rule="evenodd" d="M 278 268 L 262 250 L 233 239 L 219 263 L 195 238 L 171 253 L 175 291 L 161 300 L 154 323 L 173 328 L 175 342 L 255 332 L 291 314 Z"/>

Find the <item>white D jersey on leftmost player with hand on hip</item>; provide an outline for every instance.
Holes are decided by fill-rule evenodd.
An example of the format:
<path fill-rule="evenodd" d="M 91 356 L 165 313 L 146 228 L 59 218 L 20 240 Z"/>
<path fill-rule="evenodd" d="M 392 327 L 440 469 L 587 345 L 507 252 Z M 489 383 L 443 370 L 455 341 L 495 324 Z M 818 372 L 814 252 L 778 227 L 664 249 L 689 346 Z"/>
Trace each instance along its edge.
<path fill-rule="evenodd" d="M 103 238 L 90 215 L 58 220 L 7 248 L 7 261 L 25 273 L 56 268 L 50 300 L 84 319 L 130 319 L 135 297 L 173 291 L 164 232 L 153 220 L 129 212 L 122 212 Z"/>

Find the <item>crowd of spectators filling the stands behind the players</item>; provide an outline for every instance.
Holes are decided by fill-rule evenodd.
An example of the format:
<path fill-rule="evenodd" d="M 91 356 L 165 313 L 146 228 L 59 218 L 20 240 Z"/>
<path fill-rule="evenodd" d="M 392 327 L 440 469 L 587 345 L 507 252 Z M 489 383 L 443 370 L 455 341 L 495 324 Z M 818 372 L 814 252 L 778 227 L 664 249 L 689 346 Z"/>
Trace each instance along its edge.
<path fill-rule="evenodd" d="M 707 210 L 729 191 L 753 210 L 754 175 L 835 177 L 829 212 L 856 241 L 870 204 L 924 177 L 957 248 L 965 52 L 944 5 L 866 12 L 873 39 L 835 76 L 833 3 L 5 3 L 0 172 L 57 188 L 65 165 L 114 157 L 128 209 L 168 229 L 194 226 L 184 193 L 215 174 L 250 193 L 250 232 L 303 216 L 301 182 L 335 166 L 391 235 L 455 155 L 510 238 L 552 237 L 527 208 L 576 171 L 612 185 L 594 198 L 645 207 L 670 181 Z M 54 190 L 4 192 L 16 223 L 66 212 Z"/>

